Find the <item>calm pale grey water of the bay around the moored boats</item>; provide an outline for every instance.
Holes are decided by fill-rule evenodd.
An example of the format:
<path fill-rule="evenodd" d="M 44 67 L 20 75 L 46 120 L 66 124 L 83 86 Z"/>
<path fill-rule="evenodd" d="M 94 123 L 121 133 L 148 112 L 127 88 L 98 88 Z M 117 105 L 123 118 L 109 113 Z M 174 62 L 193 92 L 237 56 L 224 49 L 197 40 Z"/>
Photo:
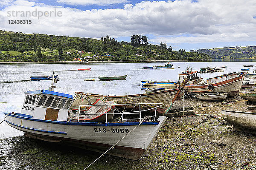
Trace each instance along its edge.
<path fill-rule="evenodd" d="M 178 80 L 178 73 L 187 67 L 200 70 L 204 67 L 227 66 L 224 73 L 199 74 L 204 79 L 230 72 L 239 72 L 243 65 L 250 67 L 253 72 L 256 62 L 173 62 L 172 70 L 143 69 L 164 63 L 106 63 L 106 64 L 0 64 L 0 121 L 5 117 L 4 112 L 20 112 L 23 104 L 24 92 L 29 90 L 49 89 L 51 81 L 30 81 L 30 76 L 51 75 L 52 71 L 58 74 L 58 83 L 55 91 L 72 94 L 75 91 L 96 94 L 140 94 L 141 80 Z M 180 67 L 180 68 L 178 68 Z M 91 68 L 90 71 L 66 71 L 77 68 Z M 98 81 L 98 76 L 122 76 L 128 74 L 126 80 Z M 96 81 L 84 81 L 96 79 Z M 5 122 L 0 125 L 0 139 L 23 133 L 9 127 Z"/>

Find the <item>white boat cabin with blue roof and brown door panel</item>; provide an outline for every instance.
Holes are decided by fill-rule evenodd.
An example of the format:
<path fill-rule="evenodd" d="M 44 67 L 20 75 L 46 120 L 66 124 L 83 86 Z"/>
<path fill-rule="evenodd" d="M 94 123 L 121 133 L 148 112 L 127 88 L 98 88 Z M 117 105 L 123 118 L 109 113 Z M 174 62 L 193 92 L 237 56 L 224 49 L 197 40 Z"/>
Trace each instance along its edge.
<path fill-rule="evenodd" d="M 48 90 L 27 91 L 21 113 L 33 119 L 67 121 L 73 96 Z"/>

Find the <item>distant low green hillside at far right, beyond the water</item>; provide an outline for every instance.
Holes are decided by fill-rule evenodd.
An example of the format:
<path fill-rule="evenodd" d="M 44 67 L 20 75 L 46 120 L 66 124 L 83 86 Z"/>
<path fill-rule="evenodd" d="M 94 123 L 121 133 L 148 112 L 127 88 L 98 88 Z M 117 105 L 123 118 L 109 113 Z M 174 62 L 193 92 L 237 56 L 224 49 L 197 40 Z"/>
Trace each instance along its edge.
<path fill-rule="evenodd" d="M 196 52 L 208 54 L 212 59 L 256 58 L 256 46 L 199 49 Z"/>

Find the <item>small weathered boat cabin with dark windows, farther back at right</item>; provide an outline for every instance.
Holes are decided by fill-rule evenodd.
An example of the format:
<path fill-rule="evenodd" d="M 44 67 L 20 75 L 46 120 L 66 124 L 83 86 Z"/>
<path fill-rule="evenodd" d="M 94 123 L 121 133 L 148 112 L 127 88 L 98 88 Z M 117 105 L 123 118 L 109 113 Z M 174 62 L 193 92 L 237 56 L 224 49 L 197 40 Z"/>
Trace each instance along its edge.
<path fill-rule="evenodd" d="M 187 84 L 189 85 L 196 85 L 199 82 L 202 82 L 202 77 L 198 77 L 197 71 L 184 71 L 181 74 L 179 74 L 179 80 L 180 84 L 183 82 L 185 78 L 189 79 L 189 82 Z"/>

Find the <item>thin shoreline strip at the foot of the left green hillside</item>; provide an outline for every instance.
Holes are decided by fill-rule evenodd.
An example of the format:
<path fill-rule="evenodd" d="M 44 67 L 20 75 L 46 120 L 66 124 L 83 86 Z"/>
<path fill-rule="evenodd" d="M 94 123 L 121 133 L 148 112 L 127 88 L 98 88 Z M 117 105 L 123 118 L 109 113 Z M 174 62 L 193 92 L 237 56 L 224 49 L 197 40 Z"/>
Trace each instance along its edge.
<path fill-rule="evenodd" d="M 134 63 L 134 62 L 197 62 L 197 61 L 211 61 L 211 59 L 174 59 L 174 60 L 133 60 L 133 61 L 88 61 L 88 62 L 79 62 L 79 61 L 36 61 L 36 62 L 0 62 L 0 64 L 26 64 L 26 63 L 68 63 L 68 64 L 92 64 L 92 63 Z"/>

